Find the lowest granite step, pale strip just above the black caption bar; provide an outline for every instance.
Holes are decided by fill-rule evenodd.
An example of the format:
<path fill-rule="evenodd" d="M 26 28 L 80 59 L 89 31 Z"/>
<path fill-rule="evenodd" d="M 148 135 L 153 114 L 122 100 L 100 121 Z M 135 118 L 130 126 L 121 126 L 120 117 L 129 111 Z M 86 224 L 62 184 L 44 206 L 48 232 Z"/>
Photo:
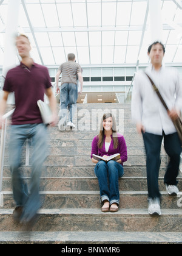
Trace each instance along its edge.
<path fill-rule="evenodd" d="M 178 232 L 0 232 L 1 244 L 61 244 L 60 252 L 71 248 L 82 249 L 81 253 L 102 249 L 107 244 L 116 244 L 114 249 L 123 251 L 121 244 L 181 244 L 182 233 Z M 67 245 L 68 244 L 68 245 Z M 122 246 L 122 247 L 121 247 Z M 109 247 L 113 247 L 109 245 Z M 79 251 L 71 251 L 78 253 Z M 98 251 L 99 252 L 99 251 Z M 116 251 L 117 252 L 117 251 Z M 96 253 L 96 252 L 95 252 Z"/>

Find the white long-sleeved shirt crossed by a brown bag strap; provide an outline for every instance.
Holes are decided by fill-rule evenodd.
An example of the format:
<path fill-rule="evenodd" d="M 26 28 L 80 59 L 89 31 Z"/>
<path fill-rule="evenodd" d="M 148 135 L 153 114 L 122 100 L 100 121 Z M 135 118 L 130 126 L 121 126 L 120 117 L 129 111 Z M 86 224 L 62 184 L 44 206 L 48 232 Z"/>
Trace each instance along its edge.
<path fill-rule="evenodd" d="M 152 65 L 145 71 L 153 80 L 169 110 L 182 110 L 182 84 L 177 69 Z M 141 123 L 146 132 L 166 135 L 177 132 L 157 93 L 144 71 L 136 73 L 132 93 L 132 120 Z"/>

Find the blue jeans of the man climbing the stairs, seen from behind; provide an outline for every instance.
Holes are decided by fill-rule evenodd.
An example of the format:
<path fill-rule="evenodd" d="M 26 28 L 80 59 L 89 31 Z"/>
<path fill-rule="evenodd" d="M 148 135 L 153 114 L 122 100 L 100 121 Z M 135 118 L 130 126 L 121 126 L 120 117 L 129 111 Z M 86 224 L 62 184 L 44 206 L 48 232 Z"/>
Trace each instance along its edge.
<path fill-rule="evenodd" d="M 62 124 L 68 121 L 73 121 L 73 116 L 76 111 L 76 102 L 78 99 L 78 87 L 73 83 L 66 83 L 61 85 L 61 110 L 60 119 Z M 69 115 L 67 116 L 67 110 L 69 110 Z"/>

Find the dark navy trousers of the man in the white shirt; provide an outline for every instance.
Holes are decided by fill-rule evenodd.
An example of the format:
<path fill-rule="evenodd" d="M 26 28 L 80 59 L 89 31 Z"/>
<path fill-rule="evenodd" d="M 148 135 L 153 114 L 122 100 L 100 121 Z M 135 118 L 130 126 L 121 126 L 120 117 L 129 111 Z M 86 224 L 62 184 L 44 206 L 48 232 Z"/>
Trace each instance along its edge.
<path fill-rule="evenodd" d="M 177 185 L 177 176 L 180 166 L 181 143 L 177 133 L 169 135 L 154 135 L 152 133 L 143 133 L 144 146 L 146 149 L 147 165 L 147 186 L 149 198 L 160 197 L 158 187 L 158 176 L 160 170 L 160 152 L 161 143 L 164 137 L 164 149 L 169 155 L 170 160 L 167 165 L 167 171 L 164 176 L 164 183 L 167 185 Z"/>

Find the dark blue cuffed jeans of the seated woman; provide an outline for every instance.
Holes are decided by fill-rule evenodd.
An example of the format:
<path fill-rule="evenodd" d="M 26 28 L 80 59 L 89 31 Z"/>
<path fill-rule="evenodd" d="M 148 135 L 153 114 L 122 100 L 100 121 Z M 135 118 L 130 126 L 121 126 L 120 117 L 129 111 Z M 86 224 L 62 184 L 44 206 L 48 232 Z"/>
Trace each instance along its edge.
<path fill-rule="evenodd" d="M 107 200 L 110 205 L 120 203 L 118 179 L 123 176 L 123 166 L 113 160 L 109 162 L 99 161 L 95 166 L 95 174 L 98 177 L 101 202 Z M 107 180 L 109 179 L 109 184 Z"/>

